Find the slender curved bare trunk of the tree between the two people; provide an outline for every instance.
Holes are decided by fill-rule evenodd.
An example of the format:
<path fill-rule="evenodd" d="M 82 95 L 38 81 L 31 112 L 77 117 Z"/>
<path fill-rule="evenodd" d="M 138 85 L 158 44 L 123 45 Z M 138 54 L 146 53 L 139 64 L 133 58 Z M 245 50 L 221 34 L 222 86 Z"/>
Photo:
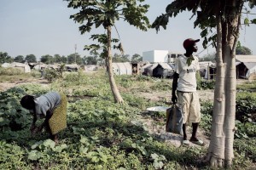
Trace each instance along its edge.
<path fill-rule="evenodd" d="M 113 94 L 113 99 L 115 103 L 124 103 L 122 96 L 119 94 L 119 89 L 115 83 L 113 77 L 113 66 L 112 66 L 112 54 L 111 54 L 111 26 L 108 26 L 108 62 L 107 62 L 107 70 L 108 70 L 108 79 L 110 83 L 110 88 Z"/>

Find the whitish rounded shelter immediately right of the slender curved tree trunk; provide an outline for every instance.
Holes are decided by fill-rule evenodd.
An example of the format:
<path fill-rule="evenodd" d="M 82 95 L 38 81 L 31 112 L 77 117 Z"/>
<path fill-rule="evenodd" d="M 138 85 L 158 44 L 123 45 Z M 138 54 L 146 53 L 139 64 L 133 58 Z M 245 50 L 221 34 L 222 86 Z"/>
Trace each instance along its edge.
<path fill-rule="evenodd" d="M 125 63 L 112 63 L 113 66 L 113 73 L 115 75 L 131 75 L 132 69 L 131 69 L 131 63 L 125 62 Z"/>

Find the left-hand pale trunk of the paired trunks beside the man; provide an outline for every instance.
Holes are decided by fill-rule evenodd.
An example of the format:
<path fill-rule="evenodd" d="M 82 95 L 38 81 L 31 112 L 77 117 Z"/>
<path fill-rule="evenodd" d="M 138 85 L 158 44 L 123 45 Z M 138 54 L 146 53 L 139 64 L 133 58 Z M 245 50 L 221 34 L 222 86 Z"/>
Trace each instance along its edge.
<path fill-rule="evenodd" d="M 224 160 L 224 63 L 222 52 L 222 25 L 221 17 L 216 17 L 217 21 L 217 56 L 216 56 L 216 84 L 214 90 L 214 103 L 212 114 L 212 134 L 211 142 L 207 150 L 207 161 L 211 167 L 223 167 Z"/>

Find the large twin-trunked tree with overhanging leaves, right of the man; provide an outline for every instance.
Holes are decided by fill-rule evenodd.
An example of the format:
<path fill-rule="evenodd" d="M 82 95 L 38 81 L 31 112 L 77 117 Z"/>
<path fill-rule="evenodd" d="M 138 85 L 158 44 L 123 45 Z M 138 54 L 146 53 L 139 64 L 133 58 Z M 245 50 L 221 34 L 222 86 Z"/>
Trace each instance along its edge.
<path fill-rule="evenodd" d="M 212 134 L 207 150 L 207 161 L 212 167 L 230 167 L 233 153 L 236 114 L 236 43 L 241 26 L 241 9 L 245 3 L 250 8 L 255 0 L 175 0 L 166 7 L 166 14 L 154 20 L 153 26 L 159 31 L 166 29 L 169 17 L 189 10 L 196 16 L 195 26 L 201 28 L 203 46 L 208 42 L 217 49 L 217 77 L 214 90 Z M 244 23 L 248 25 L 246 18 Z M 251 20 L 256 23 L 256 20 Z M 212 30 L 217 34 L 212 35 Z M 210 35 L 210 36 L 209 36 Z"/>

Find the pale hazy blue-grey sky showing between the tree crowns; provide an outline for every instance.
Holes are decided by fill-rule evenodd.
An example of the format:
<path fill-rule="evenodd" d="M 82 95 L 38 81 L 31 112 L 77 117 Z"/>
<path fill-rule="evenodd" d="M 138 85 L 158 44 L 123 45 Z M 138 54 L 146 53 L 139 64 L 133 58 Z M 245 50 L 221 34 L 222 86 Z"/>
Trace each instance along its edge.
<path fill-rule="evenodd" d="M 148 19 L 150 23 L 165 12 L 166 5 L 171 0 L 146 0 L 150 5 Z M 254 13 L 255 10 L 253 11 Z M 7 52 L 10 56 L 26 56 L 35 54 L 39 59 L 44 54 L 61 54 L 67 56 L 76 52 L 82 57 L 88 55 L 84 45 L 92 43 L 89 38 L 94 33 L 104 33 L 104 30 L 93 30 L 81 35 L 79 24 L 69 19 L 76 10 L 67 8 L 67 2 L 62 0 L 0 0 L 0 52 Z M 124 21 L 119 21 L 116 27 L 125 48 L 125 54 L 143 54 L 149 50 L 169 50 L 183 53 L 183 40 L 201 38 L 201 30 L 194 29 L 194 18 L 189 20 L 191 13 L 178 14 L 177 18 L 170 19 L 166 30 L 160 29 L 140 31 Z M 256 18 L 256 15 L 253 15 Z M 253 19 L 250 16 L 250 19 Z M 256 54 L 256 26 L 246 29 L 242 27 L 240 42 Z M 113 37 L 116 37 L 113 29 Z M 202 41 L 201 41 L 202 42 Z M 199 52 L 203 50 L 198 42 Z M 214 52 L 208 48 L 200 56 Z"/>

